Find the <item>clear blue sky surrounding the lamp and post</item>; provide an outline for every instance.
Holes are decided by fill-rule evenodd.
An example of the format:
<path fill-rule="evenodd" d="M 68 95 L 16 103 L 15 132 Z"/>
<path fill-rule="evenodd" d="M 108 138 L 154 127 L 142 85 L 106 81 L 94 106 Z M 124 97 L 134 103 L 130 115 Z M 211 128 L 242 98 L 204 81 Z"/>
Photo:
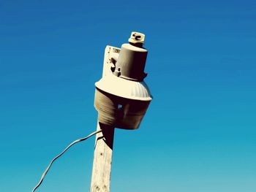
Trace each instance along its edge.
<path fill-rule="evenodd" d="M 117 129 L 112 192 L 256 191 L 255 1 L 0 1 L 0 191 L 28 192 L 96 129 L 106 45 L 146 34 L 154 100 Z M 38 191 L 89 191 L 94 138 Z"/>

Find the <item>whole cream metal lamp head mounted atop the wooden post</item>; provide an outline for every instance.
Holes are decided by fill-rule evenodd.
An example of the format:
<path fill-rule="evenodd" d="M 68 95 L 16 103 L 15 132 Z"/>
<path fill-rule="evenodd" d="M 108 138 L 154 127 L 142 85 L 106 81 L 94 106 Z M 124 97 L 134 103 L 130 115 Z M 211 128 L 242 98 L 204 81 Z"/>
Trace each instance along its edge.
<path fill-rule="evenodd" d="M 132 32 L 129 44 L 121 49 L 106 47 L 102 79 L 95 83 L 94 107 L 99 123 L 124 129 L 140 126 L 152 100 L 143 81 L 148 53 L 143 41 L 143 34 Z"/>

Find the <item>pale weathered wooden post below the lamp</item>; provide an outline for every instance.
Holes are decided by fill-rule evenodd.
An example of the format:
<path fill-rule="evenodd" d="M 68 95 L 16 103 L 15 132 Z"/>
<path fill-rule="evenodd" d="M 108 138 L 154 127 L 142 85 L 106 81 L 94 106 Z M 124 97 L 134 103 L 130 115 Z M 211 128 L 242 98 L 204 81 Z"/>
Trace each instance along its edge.
<path fill-rule="evenodd" d="M 94 164 L 91 175 L 91 192 L 109 192 L 112 164 L 113 139 L 115 128 L 97 123 L 97 134 L 94 148 Z"/>

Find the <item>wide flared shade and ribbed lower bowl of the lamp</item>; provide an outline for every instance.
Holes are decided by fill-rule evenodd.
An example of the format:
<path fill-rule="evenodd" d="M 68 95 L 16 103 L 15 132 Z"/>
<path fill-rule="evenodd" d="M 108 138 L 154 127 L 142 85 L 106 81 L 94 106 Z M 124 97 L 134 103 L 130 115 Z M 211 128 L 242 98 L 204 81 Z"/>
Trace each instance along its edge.
<path fill-rule="evenodd" d="M 98 120 L 108 126 L 136 129 L 152 100 L 145 82 L 108 74 L 95 83 L 94 107 Z"/>

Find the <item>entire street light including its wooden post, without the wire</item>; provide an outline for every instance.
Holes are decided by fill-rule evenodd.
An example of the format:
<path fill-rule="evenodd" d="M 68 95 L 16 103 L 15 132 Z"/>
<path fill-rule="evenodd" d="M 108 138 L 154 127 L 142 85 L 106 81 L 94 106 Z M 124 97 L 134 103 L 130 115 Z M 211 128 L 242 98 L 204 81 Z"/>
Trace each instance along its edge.
<path fill-rule="evenodd" d="M 152 100 L 144 82 L 148 51 L 145 35 L 132 32 L 129 43 L 107 46 L 102 78 L 95 83 L 94 107 L 98 112 L 91 192 L 110 191 L 110 172 L 115 128 L 136 129 Z"/>

